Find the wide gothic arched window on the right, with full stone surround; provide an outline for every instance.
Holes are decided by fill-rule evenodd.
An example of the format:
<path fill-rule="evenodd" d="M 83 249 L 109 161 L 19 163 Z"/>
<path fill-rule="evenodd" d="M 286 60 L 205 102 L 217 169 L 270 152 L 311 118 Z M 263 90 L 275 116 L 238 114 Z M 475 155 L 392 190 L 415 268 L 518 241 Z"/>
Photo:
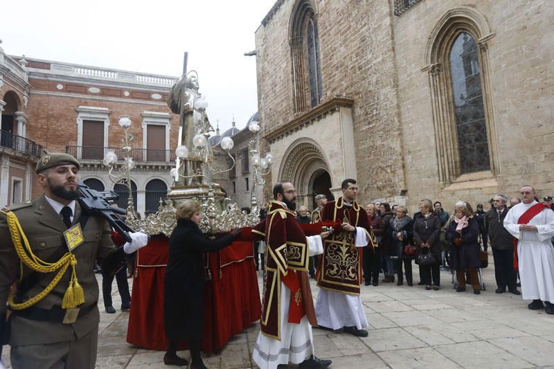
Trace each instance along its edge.
<path fill-rule="evenodd" d="M 427 44 L 438 177 L 447 186 L 462 174 L 498 172 L 498 141 L 488 78 L 486 18 L 468 7 L 446 12 Z M 489 172 L 489 173 L 487 173 Z"/>

